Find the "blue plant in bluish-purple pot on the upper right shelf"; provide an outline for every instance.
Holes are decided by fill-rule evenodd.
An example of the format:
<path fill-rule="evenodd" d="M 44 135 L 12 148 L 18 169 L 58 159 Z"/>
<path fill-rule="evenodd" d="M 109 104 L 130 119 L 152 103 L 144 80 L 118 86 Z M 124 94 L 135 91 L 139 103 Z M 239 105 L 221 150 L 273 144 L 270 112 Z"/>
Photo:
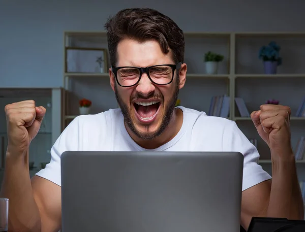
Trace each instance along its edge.
<path fill-rule="evenodd" d="M 259 50 L 259 59 L 264 62 L 265 74 L 276 74 L 277 68 L 282 64 L 280 57 L 281 47 L 276 42 L 271 41 L 267 46 L 262 46 Z"/>

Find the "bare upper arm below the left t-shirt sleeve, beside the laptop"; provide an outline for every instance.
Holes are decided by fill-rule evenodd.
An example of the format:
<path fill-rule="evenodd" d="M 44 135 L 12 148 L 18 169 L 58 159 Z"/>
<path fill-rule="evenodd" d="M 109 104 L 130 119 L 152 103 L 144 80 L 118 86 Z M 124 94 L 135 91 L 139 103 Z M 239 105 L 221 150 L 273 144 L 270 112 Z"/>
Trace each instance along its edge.
<path fill-rule="evenodd" d="M 38 206 L 42 232 L 58 231 L 62 221 L 61 187 L 39 176 L 32 178 L 33 195 Z"/>

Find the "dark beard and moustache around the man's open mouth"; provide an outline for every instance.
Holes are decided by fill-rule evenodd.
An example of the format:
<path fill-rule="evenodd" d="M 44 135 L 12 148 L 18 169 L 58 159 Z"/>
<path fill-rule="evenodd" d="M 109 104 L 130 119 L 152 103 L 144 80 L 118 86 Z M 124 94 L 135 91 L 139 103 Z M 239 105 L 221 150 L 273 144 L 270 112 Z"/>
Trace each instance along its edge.
<path fill-rule="evenodd" d="M 117 83 L 115 83 L 115 85 L 114 85 L 115 97 L 116 97 L 116 101 L 121 109 L 121 112 L 124 116 L 124 121 L 127 124 L 127 126 L 130 128 L 130 130 L 139 139 L 153 140 L 153 139 L 157 138 L 158 136 L 160 136 L 162 134 L 162 132 L 168 127 L 168 125 L 171 121 L 171 118 L 172 118 L 172 115 L 174 112 L 174 108 L 176 105 L 176 101 L 178 98 L 178 94 L 179 94 L 178 83 L 179 83 L 179 80 L 177 78 L 173 94 L 171 95 L 171 97 L 167 103 L 164 102 L 164 115 L 161 117 L 161 120 L 162 120 L 161 124 L 160 124 L 159 128 L 157 128 L 157 130 L 154 132 L 141 132 L 136 128 L 135 122 L 132 120 L 132 117 L 131 117 L 131 110 L 128 107 L 128 105 L 124 103 L 123 99 L 120 97 L 119 93 L 117 92 L 117 86 L 116 86 Z M 137 95 L 137 96 L 139 96 L 139 95 Z M 135 96 L 135 97 L 137 97 L 137 96 Z M 149 95 L 149 97 L 151 97 L 151 96 L 156 96 L 156 93 L 155 92 L 151 93 L 151 95 Z M 145 97 L 142 97 L 142 98 L 145 98 Z M 148 98 L 148 97 L 146 97 L 146 98 Z M 148 125 L 148 127 L 149 127 L 149 125 Z"/>

